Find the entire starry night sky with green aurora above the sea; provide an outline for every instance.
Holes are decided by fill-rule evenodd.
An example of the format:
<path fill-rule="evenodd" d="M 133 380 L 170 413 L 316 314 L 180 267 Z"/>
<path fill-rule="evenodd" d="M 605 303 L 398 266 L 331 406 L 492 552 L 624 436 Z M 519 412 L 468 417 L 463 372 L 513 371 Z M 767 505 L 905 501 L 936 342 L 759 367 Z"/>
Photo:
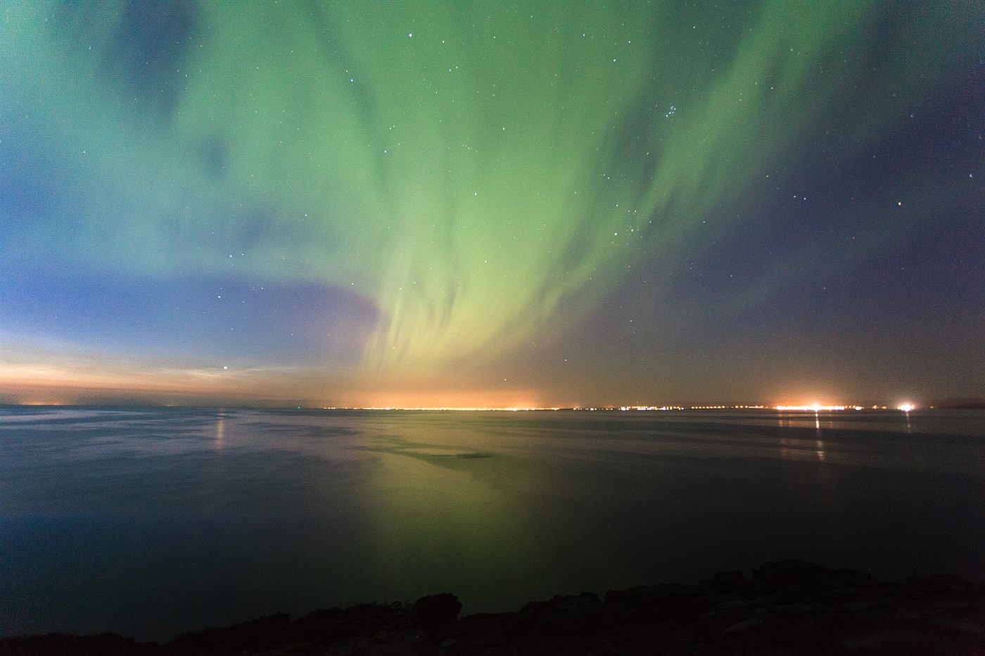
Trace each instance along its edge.
<path fill-rule="evenodd" d="M 985 396 L 976 2 L 0 1 L 0 401 Z"/>

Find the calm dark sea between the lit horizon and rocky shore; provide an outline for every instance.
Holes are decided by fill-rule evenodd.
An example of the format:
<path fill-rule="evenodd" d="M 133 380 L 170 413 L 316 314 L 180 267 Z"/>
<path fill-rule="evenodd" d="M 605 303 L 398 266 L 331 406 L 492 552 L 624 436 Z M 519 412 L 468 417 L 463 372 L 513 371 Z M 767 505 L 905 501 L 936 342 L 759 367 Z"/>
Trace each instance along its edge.
<path fill-rule="evenodd" d="M 465 613 L 803 558 L 985 579 L 985 413 L 0 407 L 0 634 Z"/>

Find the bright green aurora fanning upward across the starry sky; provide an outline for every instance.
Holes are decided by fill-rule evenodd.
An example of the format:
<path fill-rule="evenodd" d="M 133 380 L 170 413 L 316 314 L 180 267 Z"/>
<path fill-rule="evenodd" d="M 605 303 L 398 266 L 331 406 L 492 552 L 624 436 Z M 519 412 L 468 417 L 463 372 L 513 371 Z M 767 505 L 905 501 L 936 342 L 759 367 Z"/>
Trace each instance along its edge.
<path fill-rule="evenodd" d="M 908 63 L 877 81 L 861 2 L 202 2 L 148 93 L 114 60 L 120 6 L 0 7 L 5 120 L 96 190 L 0 255 L 159 278 L 232 255 L 370 299 L 365 370 L 411 374 L 559 334 L 834 107 L 828 152 L 854 152 L 951 32 L 941 10 L 882 35 Z"/>

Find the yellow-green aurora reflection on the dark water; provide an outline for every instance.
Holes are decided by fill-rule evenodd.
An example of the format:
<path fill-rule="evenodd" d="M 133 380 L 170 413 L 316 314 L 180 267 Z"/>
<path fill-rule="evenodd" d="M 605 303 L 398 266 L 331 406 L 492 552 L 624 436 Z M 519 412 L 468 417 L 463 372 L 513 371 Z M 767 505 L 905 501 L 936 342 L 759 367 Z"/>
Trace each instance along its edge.
<path fill-rule="evenodd" d="M 529 463 L 467 444 L 374 442 L 361 447 L 379 455 L 364 500 L 385 594 L 450 591 L 468 611 L 470 599 L 506 610 L 539 591 L 547 556 L 526 500 Z"/>

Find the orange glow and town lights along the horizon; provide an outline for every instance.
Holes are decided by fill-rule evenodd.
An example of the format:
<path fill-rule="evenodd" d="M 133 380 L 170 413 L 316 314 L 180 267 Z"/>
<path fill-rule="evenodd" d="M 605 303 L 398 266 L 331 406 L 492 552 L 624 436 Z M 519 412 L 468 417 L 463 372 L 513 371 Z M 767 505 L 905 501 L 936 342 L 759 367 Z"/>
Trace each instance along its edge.
<path fill-rule="evenodd" d="M 351 372 L 350 372 L 351 373 Z M 457 386 L 456 386 L 457 385 Z M 821 396 L 821 395 L 819 395 Z M 823 395 L 827 396 L 827 395 Z M 787 397 L 788 399 L 791 397 Z M 793 397 L 796 399 L 796 397 Z M 802 397 L 803 398 L 803 397 Z M 818 398 L 818 397 L 815 397 Z M 828 396 L 827 398 L 830 398 Z M 811 399 L 811 397 L 808 397 Z M 777 405 L 680 406 L 585 404 L 529 388 L 472 387 L 465 379 L 383 376 L 334 377 L 296 368 L 245 368 L 219 364 L 182 367 L 169 363 L 93 361 L 62 357 L 32 363 L 0 361 L 0 403 L 20 405 L 150 404 L 243 405 L 261 407 L 353 408 L 366 410 L 713 410 L 771 409 L 780 412 L 863 410 L 853 403 L 788 402 Z M 865 408 L 909 413 L 910 401 Z"/>

